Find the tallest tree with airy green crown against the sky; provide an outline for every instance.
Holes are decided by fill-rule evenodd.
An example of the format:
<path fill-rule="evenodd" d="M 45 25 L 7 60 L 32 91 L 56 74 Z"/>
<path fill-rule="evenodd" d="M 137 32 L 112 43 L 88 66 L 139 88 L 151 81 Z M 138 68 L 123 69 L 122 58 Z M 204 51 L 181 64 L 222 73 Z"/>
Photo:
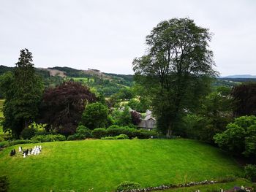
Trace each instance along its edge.
<path fill-rule="evenodd" d="M 135 80 L 151 98 L 158 128 L 168 136 L 187 110 L 195 110 L 214 77 L 211 34 L 189 18 L 162 21 L 146 37 L 146 55 L 135 58 Z"/>

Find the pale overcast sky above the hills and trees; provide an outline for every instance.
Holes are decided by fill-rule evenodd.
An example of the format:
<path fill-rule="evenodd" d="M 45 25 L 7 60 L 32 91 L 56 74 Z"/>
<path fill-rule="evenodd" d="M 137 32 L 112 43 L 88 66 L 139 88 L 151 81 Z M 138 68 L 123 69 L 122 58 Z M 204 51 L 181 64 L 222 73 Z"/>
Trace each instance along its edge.
<path fill-rule="evenodd" d="M 256 74 L 255 0 L 0 0 L 0 65 L 15 66 L 28 48 L 35 67 L 133 74 L 151 29 L 187 17 L 214 34 L 221 76 Z"/>

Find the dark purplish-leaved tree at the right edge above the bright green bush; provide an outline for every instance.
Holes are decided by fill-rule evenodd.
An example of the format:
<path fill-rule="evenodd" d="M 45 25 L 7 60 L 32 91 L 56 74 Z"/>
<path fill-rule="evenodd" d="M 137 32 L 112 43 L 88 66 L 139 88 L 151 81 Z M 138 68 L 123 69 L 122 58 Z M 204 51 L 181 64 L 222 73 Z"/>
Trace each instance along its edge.
<path fill-rule="evenodd" d="M 256 83 L 246 83 L 237 85 L 232 91 L 236 108 L 234 115 L 256 115 Z"/>

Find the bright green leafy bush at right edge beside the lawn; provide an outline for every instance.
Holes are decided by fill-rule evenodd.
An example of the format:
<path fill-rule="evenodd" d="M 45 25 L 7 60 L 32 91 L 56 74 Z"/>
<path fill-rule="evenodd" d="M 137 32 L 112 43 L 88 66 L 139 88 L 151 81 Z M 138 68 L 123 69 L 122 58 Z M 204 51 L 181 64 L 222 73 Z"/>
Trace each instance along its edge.
<path fill-rule="evenodd" d="M 227 125 L 227 130 L 214 136 L 215 142 L 233 154 L 243 154 L 255 158 L 256 117 L 241 116 Z"/>

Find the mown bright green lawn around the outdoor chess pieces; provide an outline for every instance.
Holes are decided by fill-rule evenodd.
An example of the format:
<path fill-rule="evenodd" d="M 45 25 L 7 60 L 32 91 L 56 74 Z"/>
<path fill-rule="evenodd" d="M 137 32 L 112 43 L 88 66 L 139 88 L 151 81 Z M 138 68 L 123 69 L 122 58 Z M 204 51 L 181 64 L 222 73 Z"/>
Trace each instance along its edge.
<path fill-rule="evenodd" d="M 189 139 L 84 140 L 41 145 L 42 153 L 28 158 L 10 157 L 14 146 L 0 152 L 0 174 L 10 177 L 10 191 L 113 191 L 125 180 L 146 187 L 214 180 L 242 172 L 217 148 Z"/>

